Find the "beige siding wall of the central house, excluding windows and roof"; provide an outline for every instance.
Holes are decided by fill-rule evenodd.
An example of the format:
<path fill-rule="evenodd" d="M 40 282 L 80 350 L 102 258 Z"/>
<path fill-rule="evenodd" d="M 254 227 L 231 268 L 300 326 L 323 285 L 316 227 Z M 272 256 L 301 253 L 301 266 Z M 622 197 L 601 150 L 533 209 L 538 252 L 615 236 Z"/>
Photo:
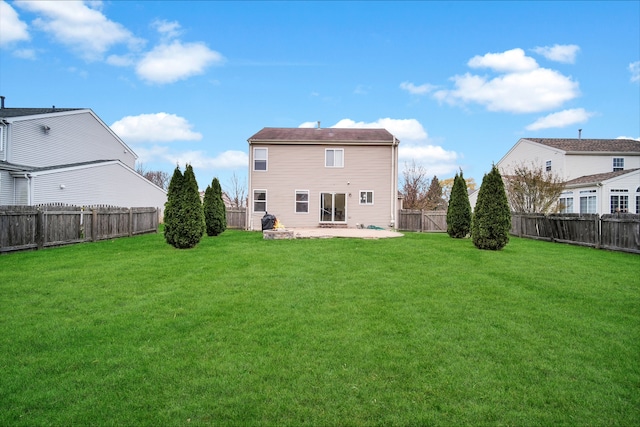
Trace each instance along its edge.
<path fill-rule="evenodd" d="M 392 179 L 392 150 L 387 146 L 353 145 L 255 145 L 268 147 L 267 171 L 251 170 L 253 190 L 267 190 L 267 210 L 286 227 L 317 227 L 320 224 L 320 194 L 345 193 L 347 195 L 347 226 L 356 224 L 389 227 L 394 218 L 396 191 Z M 344 167 L 326 168 L 325 149 L 343 148 Z M 253 169 L 253 165 L 250 166 Z M 394 169 L 392 171 L 392 168 Z M 309 191 L 309 212 L 295 212 L 296 190 Z M 373 205 L 361 205 L 359 193 L 374 192 Z M 260 229 L 262 212 L 251 210 L 249 227 Z"/>

